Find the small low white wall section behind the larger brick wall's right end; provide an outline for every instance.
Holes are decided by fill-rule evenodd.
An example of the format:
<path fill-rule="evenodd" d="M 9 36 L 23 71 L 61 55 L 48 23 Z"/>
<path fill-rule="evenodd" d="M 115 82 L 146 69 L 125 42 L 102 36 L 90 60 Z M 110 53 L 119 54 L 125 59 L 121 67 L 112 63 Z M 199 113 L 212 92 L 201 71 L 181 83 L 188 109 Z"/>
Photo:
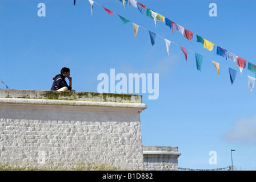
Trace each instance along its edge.
<path fill-rule="evenodd" d="M 178 147 L 143 146 L 144 169 L 146 171 L 177 171 Z"/>

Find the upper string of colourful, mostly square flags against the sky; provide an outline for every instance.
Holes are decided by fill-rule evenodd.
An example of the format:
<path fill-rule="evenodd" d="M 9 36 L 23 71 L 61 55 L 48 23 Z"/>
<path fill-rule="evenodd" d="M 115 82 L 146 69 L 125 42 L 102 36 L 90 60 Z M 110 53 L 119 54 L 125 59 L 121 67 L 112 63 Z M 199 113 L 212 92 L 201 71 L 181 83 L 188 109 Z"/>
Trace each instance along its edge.
<path fill-rule="evenodd" d="M 173 21 L 166 18 L 165 16 L 162 16 L 161 14 L 156 13 L 155 11 L 149 9 L 148 7 L 142 5 L 141 3 L 139 3 L 135 0 L 119 0 L 119 1 L 121 1 L 123 3 L 123 6 L 125 6 L 125 4 L 128 4 L 133 7 L 138 7 L 139 11 L 142 14 L 144 13 L 144 11 L 146 9 L 146 16 L 149 16 L 150 18 L 154 19 L 155 27 L 157 27 L 156 21 L 158 20 L 158 21 L 165 23 L 166 26 L 169 26 L 170 29 L 173 30 L 173 33 L 174 33 L 174 30 L 177 30 L 177 31 L 181 32 L 181 34 L 183 34 L 184 37 L 186 39 L 188 39 L 189 41 L 191 41 L 191 39 L 193 38 L 193 35 L 194 35 L 193 32 L 187 30 L 186 28 L 180 26 L 177 23 L 174 23 Z M 197 34 L 195 34 L 195 35 L 197 35 Z M 238 56 L 234 55 L 233 53 L 226 51 L 226 49 L 216 46 L 214 43 L 211 43 L 209 40 L 206 40 L 199 35 L 197 35 L 197 42 L 202 43 L 203 47 L 208 49 L 209 51 L 212 51 L 215 46 L 215 47 L 217 47 L 216 48 L 217 55 L 226 57 L 226 60 L 229 59 L 229 60 L 233 61 L 234 63 L 237 61 L 237 65 L 238 65 L 241 73 L 242 73 L 242 70 L 246 67 L 246 63 L 248 63 L 247 69 L 249 69 L 252 73 L 254 73 L 256 75 L 256 65 L 254 65 L 253 63 L 243 60 L 241 57 L 238 57 Z"/>

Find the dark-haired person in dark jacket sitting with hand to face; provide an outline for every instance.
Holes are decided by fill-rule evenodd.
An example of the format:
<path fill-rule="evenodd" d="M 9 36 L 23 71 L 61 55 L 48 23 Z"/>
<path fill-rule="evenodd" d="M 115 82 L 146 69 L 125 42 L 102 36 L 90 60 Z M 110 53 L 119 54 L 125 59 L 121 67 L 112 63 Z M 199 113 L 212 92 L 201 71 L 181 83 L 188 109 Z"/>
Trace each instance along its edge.
<path fill-rule="evenodd" d="M 67 82 L 65 81 L 65 78 L 69 79 L 69 85 L 67 85 Z M 69 68 L 62 68 L 61 74 L 56 75 L 53 78 L 53 86 L 51 86 L 51 90 L 56 91 L 71 91 L 72 89 L 72 78 L 70 77 L 70 69 Z M 72 90 L 74 91 L 74 90 Z"/>

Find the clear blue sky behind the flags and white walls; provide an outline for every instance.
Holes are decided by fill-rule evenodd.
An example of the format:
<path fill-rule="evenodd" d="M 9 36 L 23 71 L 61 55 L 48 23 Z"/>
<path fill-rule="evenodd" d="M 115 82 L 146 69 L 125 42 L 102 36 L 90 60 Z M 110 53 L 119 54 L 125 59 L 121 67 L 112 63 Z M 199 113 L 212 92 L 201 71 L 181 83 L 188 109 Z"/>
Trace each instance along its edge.
<path fill-rule="evenodd" d="M 39 17 L 38 3 L 45 3 L 46 16 Z M 157 36 L 154 46 L 149 32 L 123 24 L 94 3 L 93 16 L 87 0 L 1 0 L 0 78 L 10 89 L 50 90 L 52 78 L 62 67 L 71 69 L 73 89 L 97 92 L 100 73 L 159 73 L 159 97 L 149 100 L 140 93 L 147 109 L 141 113 L 142 144 L 178 146 L 182 168 L 210 169 L 233 164 L 239 170 L 256 169 L 255 90 L 248 88 L 246 68 L 214 55 L 193 36 L 191 42 L 163 22 L 141 14 L 117 0 L 95 0 L 131 22 L 203 56 L 201 71 L 195 55 L 187 61 L 176 44 L 170 55 L 165 41 Z M 215 45 L 256 64 L 254 50 L 256 2 L 247 1 L 138 1 Z M 209 16 L 210 3 L 217 16 Z M 220 76 L 211 60 L 219 66 Z M 223 66 L 225 65 L 225 66 Z M 237 70 L 231 85 L 228 68 Z M 0 88 L 5 88 L 0 83 Z M 209 164 L 210 151 L 217 164 Z"/>

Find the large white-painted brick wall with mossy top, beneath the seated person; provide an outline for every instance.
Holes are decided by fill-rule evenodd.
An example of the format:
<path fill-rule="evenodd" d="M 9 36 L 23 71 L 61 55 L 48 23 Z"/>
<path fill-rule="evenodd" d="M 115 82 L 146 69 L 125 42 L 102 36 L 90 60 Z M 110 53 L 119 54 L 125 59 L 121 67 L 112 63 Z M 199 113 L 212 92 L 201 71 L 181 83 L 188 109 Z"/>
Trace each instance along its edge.
<path fill-rule="evenodd" d="M 0 89 L 0 167 L 141 170 L 142 96 Z"/>

